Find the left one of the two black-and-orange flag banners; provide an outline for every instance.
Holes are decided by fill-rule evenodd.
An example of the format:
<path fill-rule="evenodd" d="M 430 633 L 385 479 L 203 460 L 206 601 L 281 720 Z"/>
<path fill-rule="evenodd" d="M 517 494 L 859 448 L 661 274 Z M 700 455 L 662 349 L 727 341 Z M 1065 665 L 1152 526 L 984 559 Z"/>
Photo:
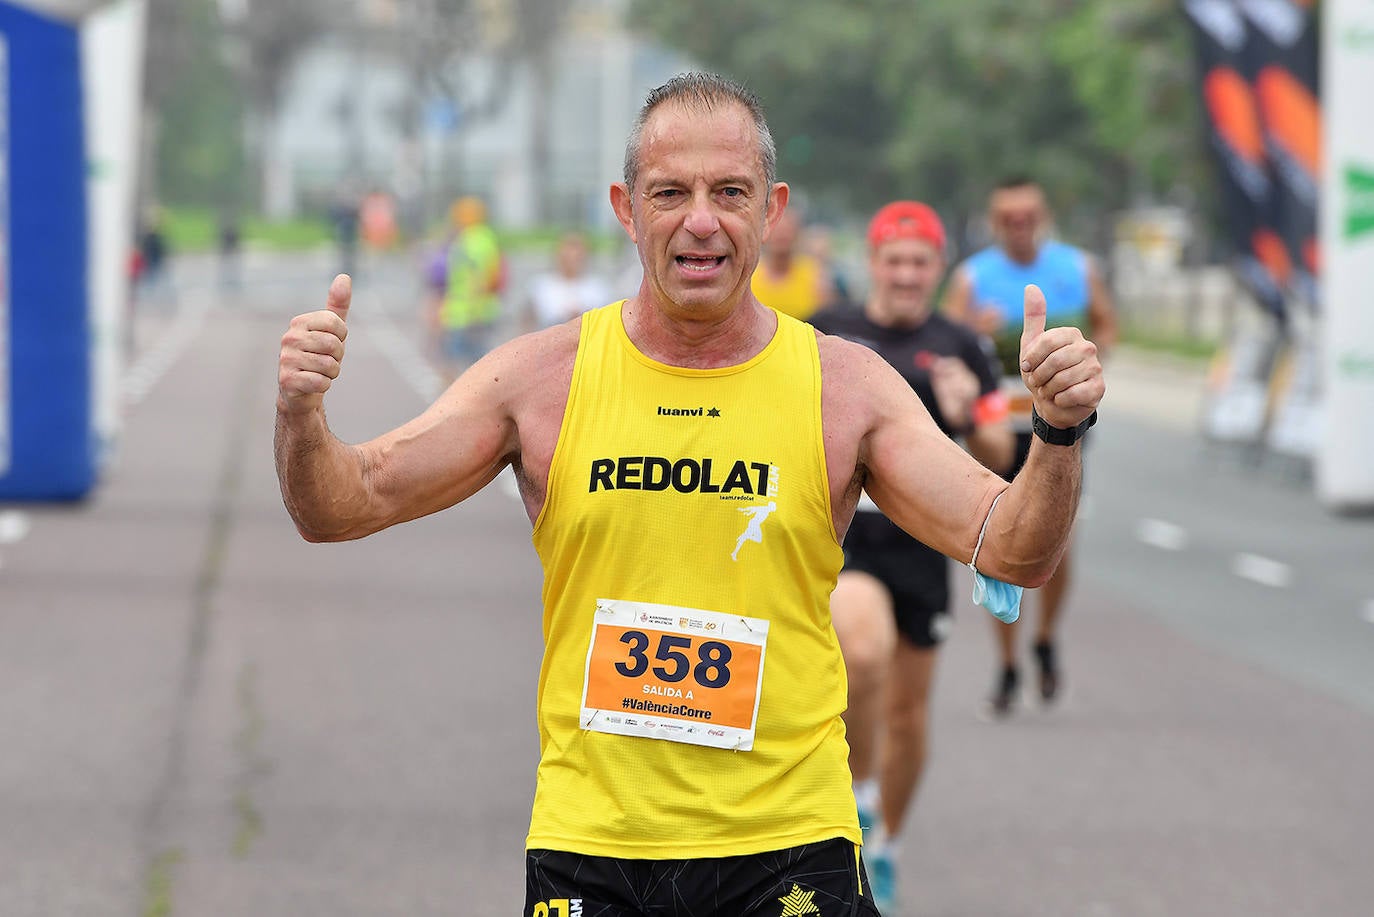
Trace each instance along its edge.
<path fill-rule="evenodd" d="M 1193 25 L 1235 268 L 1260 304 L 1282 319 L 1293 263 L 1278 230 L 1275 175 L 1254 91 L 1259 40 L 1242 0 L 1183 0 L 1183 12 Z"/>

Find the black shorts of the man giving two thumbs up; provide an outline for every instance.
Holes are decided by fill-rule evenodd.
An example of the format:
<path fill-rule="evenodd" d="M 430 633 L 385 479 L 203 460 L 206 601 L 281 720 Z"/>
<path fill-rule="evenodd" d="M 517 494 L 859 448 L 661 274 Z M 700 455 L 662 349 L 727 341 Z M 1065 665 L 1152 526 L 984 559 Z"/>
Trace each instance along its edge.
<path fill-rule="evenodd" d="M 852 841 L 701 859 L 525 852 L 525 917 L 874 917 Z"/>

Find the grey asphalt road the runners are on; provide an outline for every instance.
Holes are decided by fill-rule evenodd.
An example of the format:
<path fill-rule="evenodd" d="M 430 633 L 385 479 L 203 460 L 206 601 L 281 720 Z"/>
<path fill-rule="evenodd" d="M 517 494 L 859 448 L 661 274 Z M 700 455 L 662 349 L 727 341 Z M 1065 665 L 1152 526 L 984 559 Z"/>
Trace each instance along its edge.
<path fill-rule="evenodd" d="M 529 522 L 497 481 L 363 542 L 297 538 L 272 470 L 275 359 L 328 272 L 272 265 L 236 296 L 194 275 L 140 307 L 99 491 L 0 506 L 0 914 L 518 913 Z M 437 386 L 404 265 L 357 291 L 330 396 L 350 440 Z M 1208 448 L 1195 375 L 1114 370 L 1069 697 L 978 715 L 991 624 L 960 577 L 904 913 L 1366 914 L 1374 521 Z"/>

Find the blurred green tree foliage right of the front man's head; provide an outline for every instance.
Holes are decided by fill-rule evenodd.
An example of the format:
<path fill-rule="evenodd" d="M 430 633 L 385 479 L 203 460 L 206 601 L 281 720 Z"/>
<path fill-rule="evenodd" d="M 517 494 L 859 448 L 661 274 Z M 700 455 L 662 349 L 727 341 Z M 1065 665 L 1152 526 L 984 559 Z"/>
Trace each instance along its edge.
<path fill-rule="evenodd" d="M 1171 192 L 1201 155 L 1171 0 L 636 0 L 633 22 L 763 98 L 783 175 L 864 212 L 982 206 L 1009 172 L 1062 209 Z"/>

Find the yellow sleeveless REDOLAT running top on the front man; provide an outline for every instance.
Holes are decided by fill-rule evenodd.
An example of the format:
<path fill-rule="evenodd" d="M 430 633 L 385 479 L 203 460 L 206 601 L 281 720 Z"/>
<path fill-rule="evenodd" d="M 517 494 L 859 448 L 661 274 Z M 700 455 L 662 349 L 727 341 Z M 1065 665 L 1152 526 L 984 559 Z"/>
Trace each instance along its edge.
<path fill-rule="evenodd" d="M 583 316 L 534 524 L 544 566 L 529 848 L 679 859 L 860 841 L 830 624 L 815 331 L 657 363 Z"/>

